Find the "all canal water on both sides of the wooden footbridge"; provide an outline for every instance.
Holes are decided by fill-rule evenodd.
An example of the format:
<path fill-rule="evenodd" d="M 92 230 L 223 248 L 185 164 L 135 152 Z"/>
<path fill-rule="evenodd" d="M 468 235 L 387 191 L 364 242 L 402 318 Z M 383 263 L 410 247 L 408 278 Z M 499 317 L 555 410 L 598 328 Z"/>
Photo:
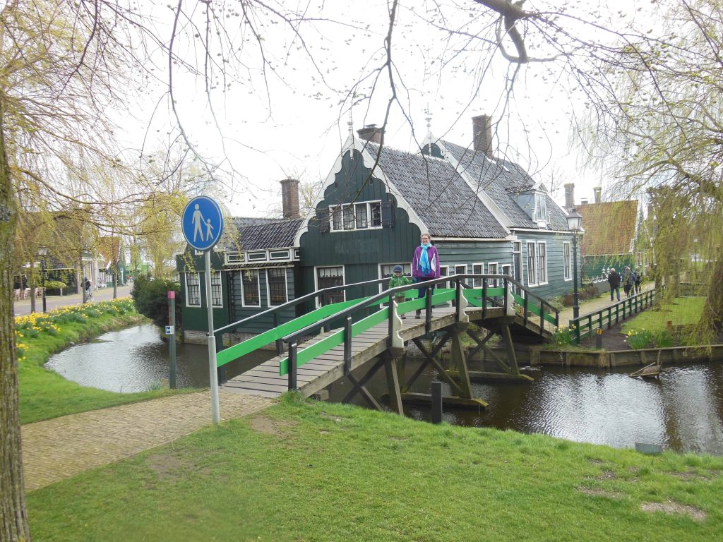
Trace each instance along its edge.
<path fill-rule="evenodd" d="M 228 377 L 273 355 L 254 353 L 230 364 Z M 407 374 L 420 361 L 410 358 Z M 208 386 L 205 345 L 178 345 L 179 386 Z M 86 386 L 116 392 L 147 390 L 168 379 L 168 345 L 153 325 L 106 333 L 93 343 L 53 356 L 46 366 Z M 723 455 L 723 365 L 666 367 L 659 381 L 633 379 L 627 372 L 534 368 L 531 384 L 473 384 L 485 410 L 448 410 L 449 423 L 542 433 L 577 442 L 632 448 L 659 444 L 677 452 Z M 435 371 L 427 369 L 413 391 L 429 392 Z M 367 384 L 377 398 L 386 390 L 383 369 Z M 333 384 L 330 399 L 341 401 L 351 384 Z M 448 390 L 445 390 L 447 393 Z M 366 405 L 356 396 L 354 403 Z M 429 420 L 429 408 L 411 406 L 406 414 Z"/>

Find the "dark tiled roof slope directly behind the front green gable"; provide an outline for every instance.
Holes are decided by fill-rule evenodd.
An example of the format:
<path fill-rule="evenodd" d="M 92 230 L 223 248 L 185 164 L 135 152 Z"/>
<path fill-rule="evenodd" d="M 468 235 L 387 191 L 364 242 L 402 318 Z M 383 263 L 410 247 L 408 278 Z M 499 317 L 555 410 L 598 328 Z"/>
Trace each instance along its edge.
<path fill-rule="evenodd" d="M 379 145 L 366 145 L 375 157 Z M 380 166 L 432 236 L 507 236 L 505 228 L 447 160 L 382 147 Z"/>

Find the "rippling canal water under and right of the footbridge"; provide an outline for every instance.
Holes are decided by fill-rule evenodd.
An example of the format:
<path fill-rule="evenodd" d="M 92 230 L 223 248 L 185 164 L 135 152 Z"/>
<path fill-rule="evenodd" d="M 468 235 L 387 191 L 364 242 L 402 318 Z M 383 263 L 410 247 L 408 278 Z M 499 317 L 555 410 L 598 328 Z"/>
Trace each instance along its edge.
<path fill-rule="evenodd" d="M 406 374 L 419 366 L 408 363 Z M 452 410 L 445 421 L 461 426 L 496 427 L 542 433 L 576 442 L 632 448 L 636 442 L 661 444 L 677 452 L 723 455 L 723 366 L 664 369 L 659 381 L 633 379 L 627 372 L 528 369 L 531 384 L 472 384 L 486 410 Z M 414 390 L 429 392 L 435 371 L 427 369 Z M 444 393 L 449 389 L 444 386 Z M 383 371 L 367 385 L 375 397 L 386 392 Z M 335 384 L 333 400 L 351 390 Z M 354 402 L 366 405 L 357 396 Z M 412 418 L 429 420 L 429 408 L 406 408 Z"/>

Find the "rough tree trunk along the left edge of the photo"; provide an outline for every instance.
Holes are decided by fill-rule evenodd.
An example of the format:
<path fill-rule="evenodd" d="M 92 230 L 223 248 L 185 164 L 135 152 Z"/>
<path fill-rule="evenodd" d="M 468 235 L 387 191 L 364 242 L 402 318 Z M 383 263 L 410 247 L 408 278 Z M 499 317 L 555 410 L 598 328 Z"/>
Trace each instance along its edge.
<path fill-rule="evenodd" d="M 22 480 L 17 357 L 12 317 L 13 241 L 17 213 L 4 139 L 4 96 L 0 93 L 0 540 L 29 541 Z"/>

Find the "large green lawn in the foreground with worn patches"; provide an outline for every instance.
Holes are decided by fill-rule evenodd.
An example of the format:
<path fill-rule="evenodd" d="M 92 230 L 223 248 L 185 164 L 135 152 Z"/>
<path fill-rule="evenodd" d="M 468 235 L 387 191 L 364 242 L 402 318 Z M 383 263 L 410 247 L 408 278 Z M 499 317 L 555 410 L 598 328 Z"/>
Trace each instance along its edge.
<path fill-rule="evenodd" d="M 723 458 L 285 402 L 28 495 L 35 541 L 723 539 Z"/>

